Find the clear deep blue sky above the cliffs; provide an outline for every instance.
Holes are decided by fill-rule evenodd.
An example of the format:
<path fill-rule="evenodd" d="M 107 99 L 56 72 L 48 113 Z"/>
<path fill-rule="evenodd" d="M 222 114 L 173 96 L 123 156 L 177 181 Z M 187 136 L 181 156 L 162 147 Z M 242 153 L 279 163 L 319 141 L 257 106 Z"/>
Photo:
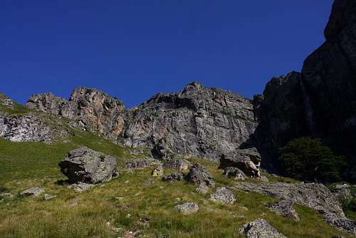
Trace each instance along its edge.
<path fill-rule="evenodd" d="M 138 105 L 191 81 L 247 97 L 300 71 L 332 0 L 1 0 L 0 91 L 78 86 Z"/>

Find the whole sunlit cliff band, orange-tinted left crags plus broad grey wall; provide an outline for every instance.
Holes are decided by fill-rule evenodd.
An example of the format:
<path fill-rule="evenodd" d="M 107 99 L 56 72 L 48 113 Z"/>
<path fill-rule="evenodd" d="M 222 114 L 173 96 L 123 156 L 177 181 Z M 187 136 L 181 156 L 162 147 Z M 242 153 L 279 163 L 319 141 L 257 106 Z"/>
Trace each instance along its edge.
<path fill-rule="evenodd" d="M 179 93 L 157 94 L 125 110 L 117 99 L 94 89 L 77 88 L 69 100 L 51 93 L 32 95 L 29 108 L 75 120 L 78 127 L 123 145 L 219 160 L 239 148 L 256 128 L 248 98 L 191 83 Z"/>

